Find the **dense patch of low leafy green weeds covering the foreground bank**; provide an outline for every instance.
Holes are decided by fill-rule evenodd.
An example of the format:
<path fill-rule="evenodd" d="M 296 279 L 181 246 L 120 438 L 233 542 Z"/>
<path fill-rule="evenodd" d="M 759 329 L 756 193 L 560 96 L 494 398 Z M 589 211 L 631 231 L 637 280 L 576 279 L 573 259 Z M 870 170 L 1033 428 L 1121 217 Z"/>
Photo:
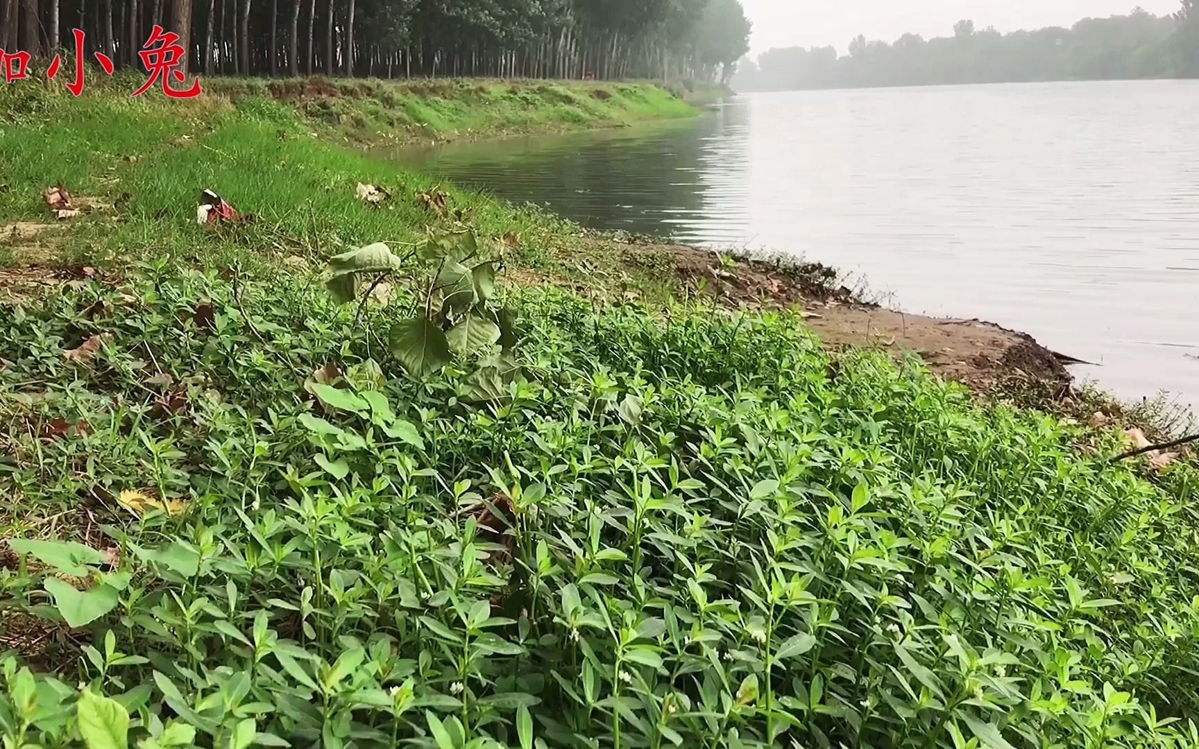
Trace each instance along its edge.
<path fill-rule="evenodd" d="M 6 749 L 1199 745 L 1191 469 L 472 241 L 5 308 Z"/>

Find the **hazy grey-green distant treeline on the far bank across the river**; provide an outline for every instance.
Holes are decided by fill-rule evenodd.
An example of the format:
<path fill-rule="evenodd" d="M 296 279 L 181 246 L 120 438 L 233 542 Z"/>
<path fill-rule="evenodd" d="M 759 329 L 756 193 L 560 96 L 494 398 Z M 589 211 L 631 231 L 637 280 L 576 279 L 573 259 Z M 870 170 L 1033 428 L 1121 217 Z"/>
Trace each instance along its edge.
<path fill-rule="evenodd" d="M 832 47 L 771 49 L 742 61 L 740 91 L 910 86 L 1035 80 L 1199 77 L 1199 0 L 1174 16 L 1141 8 L 1087 18 L 1070 29 L 1000 34 L 962 20 L 953 36 L 905 34 L 893 44 L 858 36 L 849 54 Z"/>

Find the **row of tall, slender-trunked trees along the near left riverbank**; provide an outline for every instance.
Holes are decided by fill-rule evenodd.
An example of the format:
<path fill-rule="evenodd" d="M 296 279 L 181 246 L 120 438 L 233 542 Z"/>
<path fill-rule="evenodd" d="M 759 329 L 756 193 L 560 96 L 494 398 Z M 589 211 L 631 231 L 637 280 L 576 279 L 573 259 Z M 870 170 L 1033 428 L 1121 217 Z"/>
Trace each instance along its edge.
<path fill-rule="evenodd" d="M 715 79 L 749 36 L 739 0 L 0 0 L 0 48 L 35 58 L 78 26 L 141 67 L 157 24 L 206 75 Z"/>

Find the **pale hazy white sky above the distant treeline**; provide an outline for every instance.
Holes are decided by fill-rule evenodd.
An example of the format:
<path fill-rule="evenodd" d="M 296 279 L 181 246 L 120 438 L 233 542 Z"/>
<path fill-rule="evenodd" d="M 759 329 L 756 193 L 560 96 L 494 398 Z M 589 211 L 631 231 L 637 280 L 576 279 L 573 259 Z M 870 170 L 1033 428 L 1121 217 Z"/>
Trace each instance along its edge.
<path fill-rule="evenodd" d="M 1127 13 L 1138 0 L 741 0 L 753 24 L 753 50 L 832 44 L 845 52 L 864 34 L 893 42 L 905 31 L 948 36 L 953 23 L 970 18 L 980 29 L 1000 31 L 1068 26 L 1080 18 Z M 1179 10 L 1179 0 L 1139 0 L 1157 14 Z"/>

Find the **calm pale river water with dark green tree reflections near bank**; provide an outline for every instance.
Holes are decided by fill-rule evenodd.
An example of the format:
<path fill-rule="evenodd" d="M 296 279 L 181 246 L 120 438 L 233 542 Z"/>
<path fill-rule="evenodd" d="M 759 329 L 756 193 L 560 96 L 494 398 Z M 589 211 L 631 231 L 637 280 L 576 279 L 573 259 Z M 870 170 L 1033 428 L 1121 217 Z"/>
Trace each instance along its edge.
<path fill-rule="evenodd" d="M 402 158 L 595 228 L 820 260 L 1199 404 L 1199 81 L 754 93 Z"/>

